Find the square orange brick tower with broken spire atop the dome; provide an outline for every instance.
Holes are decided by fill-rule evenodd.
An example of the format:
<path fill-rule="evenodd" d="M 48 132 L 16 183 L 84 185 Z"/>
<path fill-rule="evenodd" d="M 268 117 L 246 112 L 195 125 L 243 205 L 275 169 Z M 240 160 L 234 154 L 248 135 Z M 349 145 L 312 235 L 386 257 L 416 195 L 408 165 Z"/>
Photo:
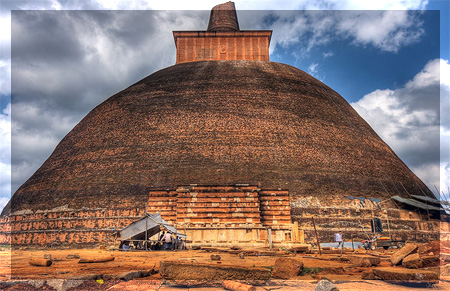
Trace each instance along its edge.
<path fill-rule="evenodd" d="M 211 10 L 207 31 L 174 31 L 176 63 L 219 60 L 268 61 L 271 30 L 239 30 L 233 2 Z"/>

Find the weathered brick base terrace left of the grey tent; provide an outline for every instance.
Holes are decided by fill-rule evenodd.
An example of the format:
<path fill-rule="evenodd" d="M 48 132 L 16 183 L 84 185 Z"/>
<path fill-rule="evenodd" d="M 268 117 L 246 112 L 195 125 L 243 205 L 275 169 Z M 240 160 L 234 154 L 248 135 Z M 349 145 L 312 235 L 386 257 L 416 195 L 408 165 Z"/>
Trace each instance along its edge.
<path fill-rule="evenodd" d="M 5 218 L 2 218 L 0 244 L 58 246 L 113 243 L 114 230 L 129 225 L 142 214 L 138 209 L 83 209 L 11 215 L 7 224 L 3 224 Z"/>

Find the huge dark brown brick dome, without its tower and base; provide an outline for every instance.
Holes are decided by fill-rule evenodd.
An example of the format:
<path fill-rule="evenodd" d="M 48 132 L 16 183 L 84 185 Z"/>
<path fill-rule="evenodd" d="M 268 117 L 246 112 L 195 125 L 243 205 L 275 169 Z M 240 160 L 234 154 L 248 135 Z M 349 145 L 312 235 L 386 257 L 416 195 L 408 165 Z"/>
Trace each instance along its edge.
<path fill-rule="evenodd" d="M 160 70 L 93 109 L 13 195 L 11 210 L 143 209 L 152 187 L 197 183 L 283 188 L 292 201 L 324 203 L 430 195 L 312 76 L 267 61 L 201 61 Z"/>

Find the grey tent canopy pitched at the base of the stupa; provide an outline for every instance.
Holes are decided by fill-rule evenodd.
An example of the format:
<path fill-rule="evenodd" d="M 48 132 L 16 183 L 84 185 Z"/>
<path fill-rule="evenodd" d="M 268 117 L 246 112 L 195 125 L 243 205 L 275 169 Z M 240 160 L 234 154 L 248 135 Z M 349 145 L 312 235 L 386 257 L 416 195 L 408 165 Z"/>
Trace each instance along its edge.
<path fill-rule="evenodd" d="M 119 230 L 120 240 L 145 240 L 146 231 L 147 238 L 149 238 L 159 233 L 163 228 L 179 237 L 186 238 L 186 235 L 180 233 L 175 227 L 162 219 L 159 213 L 146 213 L 144 217 Z"/>

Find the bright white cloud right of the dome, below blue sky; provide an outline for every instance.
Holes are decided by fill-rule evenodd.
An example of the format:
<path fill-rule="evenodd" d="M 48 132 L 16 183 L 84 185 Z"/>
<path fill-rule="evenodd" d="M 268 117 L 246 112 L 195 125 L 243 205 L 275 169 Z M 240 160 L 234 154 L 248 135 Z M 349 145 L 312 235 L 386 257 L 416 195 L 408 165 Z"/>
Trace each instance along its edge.
<path fill-rule="evenodd" d="M 450 140 L 450 135 L 442 139 L 448 131 L 439 123 L 439 99 L 450 89 L 449 69 L 448 61 L 432 60 L 402 88 L 376 90 L 351 104 L 433 191 L 434 185 L 449 186 L 449 155 L 441 151 L 439 159 L 439 141 Z"/>

